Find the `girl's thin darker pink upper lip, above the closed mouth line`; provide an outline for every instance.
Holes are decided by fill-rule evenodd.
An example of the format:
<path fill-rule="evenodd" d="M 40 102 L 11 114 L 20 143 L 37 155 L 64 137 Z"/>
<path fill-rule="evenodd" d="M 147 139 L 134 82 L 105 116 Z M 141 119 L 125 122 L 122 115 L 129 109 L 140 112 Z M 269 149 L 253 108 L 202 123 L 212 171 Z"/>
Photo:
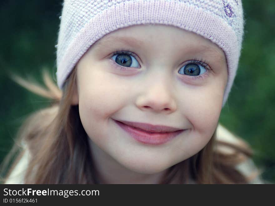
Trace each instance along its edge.
<path fill-rule="evenodd" d="M 179 128 L 168 127 L 164 125 L 152 125 L 148 123 L 128 122 L 128 121 L 121 121 L 121 120 L 119 120 L 119 122 L 127 124 L 128 126 L 131 126 L 131 127 L 145 130 L 147 132 L 175 132 L 178 130 L 182 130 Z"/>

